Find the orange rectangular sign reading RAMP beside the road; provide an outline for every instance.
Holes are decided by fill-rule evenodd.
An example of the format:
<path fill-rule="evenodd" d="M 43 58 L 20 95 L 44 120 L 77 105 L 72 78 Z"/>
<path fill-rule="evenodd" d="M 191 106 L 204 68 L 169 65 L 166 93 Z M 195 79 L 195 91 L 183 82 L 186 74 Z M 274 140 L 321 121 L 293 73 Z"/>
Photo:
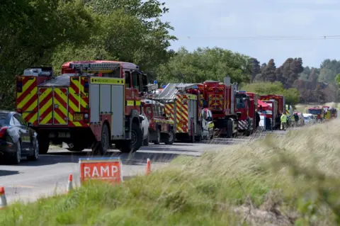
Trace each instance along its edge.
<path fill-rule="evenodd" d="M 112 183 L 123 182 L 122 162 L 120 158 L 80 158 L 79 164 L 81 183 L 89 179 Z"/>

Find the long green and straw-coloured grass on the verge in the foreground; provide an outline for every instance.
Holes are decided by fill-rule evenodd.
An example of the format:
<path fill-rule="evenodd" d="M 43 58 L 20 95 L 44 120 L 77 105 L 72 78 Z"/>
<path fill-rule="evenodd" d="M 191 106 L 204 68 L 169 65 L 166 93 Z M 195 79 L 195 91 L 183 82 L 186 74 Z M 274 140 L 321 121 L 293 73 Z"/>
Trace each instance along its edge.
<path fill-rule="evenodd" d="M 338 120 L 0 212 L 0 225 L 337 225 Z"/>

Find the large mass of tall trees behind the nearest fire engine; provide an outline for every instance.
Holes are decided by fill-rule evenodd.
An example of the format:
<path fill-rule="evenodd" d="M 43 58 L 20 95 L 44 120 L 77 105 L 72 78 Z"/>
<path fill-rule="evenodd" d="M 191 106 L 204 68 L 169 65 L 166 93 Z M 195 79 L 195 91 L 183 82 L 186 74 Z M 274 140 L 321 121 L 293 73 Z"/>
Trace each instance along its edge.
<path fill-rule="evenodd" d="M 152 71 L 176 40 L 160 20 L 167 11 L 157 0 L 1 2 L 0 108 L 14 108 L 14 75 L 30 66 L 58 74 L 70 60 L 120 60 Z"/>

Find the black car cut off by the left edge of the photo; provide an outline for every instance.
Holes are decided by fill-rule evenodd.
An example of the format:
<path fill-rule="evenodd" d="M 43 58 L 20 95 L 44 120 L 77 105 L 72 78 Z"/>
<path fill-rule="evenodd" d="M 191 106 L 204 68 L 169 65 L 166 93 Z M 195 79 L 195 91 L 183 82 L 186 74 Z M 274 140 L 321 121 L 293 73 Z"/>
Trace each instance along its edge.
<path fill-rule="evenodd" d="M 39 145 L 37 133 L 21 114 L 0 111 L 0 159 L 4 164 L 19 164 L 21 157 L 37 160 Z"/>

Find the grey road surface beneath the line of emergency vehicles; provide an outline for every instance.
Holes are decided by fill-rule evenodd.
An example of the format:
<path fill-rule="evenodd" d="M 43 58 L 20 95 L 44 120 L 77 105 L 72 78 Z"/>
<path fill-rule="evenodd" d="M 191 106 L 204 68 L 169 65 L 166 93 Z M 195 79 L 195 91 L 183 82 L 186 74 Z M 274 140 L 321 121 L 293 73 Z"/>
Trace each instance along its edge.
<path fill-rule="evenodd" d="M 284 134 L 284 131 L 275 133 Z M 123 177 L 145 174 L 147 159 L 151 159 L 152 170 L 165 166 L 175 157 L 181 155 L 199 156 L 204 151 L 221 149 L 225 145 L 233 145 L 263 137 L 253 135 L 234 139 L 214 139 L 212 142 L 174 143 L 174 145 L 149 145 L 133 154 L 111 150 L 106 157 L 120 157 L 123 162 Z M 33 201 L 43 196 L 66 191 L 69 174 L 79 186 L 79 157 L 89 157 L 90 150 L 69 152 L 54 147 L 47 154 L 40 155 L 38 161 L 22 160 L 18 166 L 0 165 L 0 186 L 5 187 L 8 204 L 15 200 Z"/>

